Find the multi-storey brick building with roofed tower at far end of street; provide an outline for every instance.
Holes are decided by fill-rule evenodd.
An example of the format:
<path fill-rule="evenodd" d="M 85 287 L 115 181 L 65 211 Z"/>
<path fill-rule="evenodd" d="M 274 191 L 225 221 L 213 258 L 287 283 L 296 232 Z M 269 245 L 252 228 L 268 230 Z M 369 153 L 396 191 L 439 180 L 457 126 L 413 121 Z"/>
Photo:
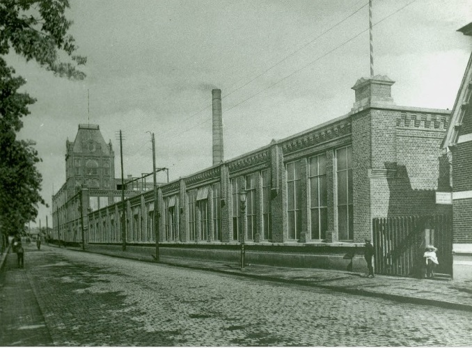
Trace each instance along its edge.
<path fill-rule="evenodd" d="M 74 141 L 65 142 L 65 183 L 52 196 L 52 239 L 82 242 L 87 233 L 88 212 L 121 201 L 121 180 L 115 178 L 115 153 L 98 125 L 79 125 Z M 152 188 L 152 183 L 124 180 L 125 197 Z M 84 226 L 84 228 L 82 228 Z"/>

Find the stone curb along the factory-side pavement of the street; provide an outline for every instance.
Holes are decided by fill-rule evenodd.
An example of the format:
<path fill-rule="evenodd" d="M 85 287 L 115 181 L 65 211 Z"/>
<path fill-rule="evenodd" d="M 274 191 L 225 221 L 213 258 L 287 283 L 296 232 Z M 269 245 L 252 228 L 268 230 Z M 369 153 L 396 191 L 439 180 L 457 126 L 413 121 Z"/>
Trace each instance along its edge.
<path fill-rule="evenodd" d="M 68 249 L 72 251 L 79 251 L 82 253 L 95 253 L 95 254 L 100 254 L 100 255 L 107 255 L 107 256 L 112 256 L 113 258 L 122 258 L 122 259 L 127 259 L 127 260 L 138 260 L 138 261 L 143 261 L 143 262 L 149 262 L 149 263 L 160 263 L 160 264 L 167 264 L 170 266 L 174 267 L 182 267 L 182 268 L 187 268 L 187 269 L 196 269 L 199 271 L 212 271 L 215 273 L 220 273 L 220 274 L 230 274 L 233 276 L 242 276 L 246 278 L 253 278 L 253 279 L 258 279 L 258 280 L 267 280 L 267 281 L 272 281 L 272 282 L 277 282 L 277 283 L 289 283 L 289 284 L 297 284 L 297 285 L 304 285 L 304 286 L 309 286 L 309 287 L 320 287 L 322 289 L 326 290 L 331 290 L 331 291 L 336 291 L 336 292 L 343 292 L 345 294 L 352 294 L 352 295 L 357 295 L 357 296 L 368 296 L 368 297 L 378 297 L 381 299 L 388 299 L 391 301 L 396 301 L 396 302 L 401 302 L 401 303 L 414 303 L 414 304 L 419 304 L 419 305 L 424 305 L 424 306 L 436 306 L 436 307 L 441 307 L 441 308 L 448 308 L 448 309 L 454 309 L 454 310 L 465 310 L 468 312 L 472 312 L 472 305 L 469 304 L 464 304 L 464 303 L 455 303 L 455 302 L 447 302 L 447 301 L 440 301 L 440 300 L 434 300 L 434 299 L 422 299 L 420 297 L 413 297 L 413 296 L 404 296 L 404 295 L 395 295 L 395 294 L 386 294 L 383 292 L 374 292 L 374 291 L 369 291 L 365 289 L 357 289 L 354 287 L 342 287 L 342 286 L 336 286 L 336 285 L 322 285 L 320 283 L 308 283 L 304 280 L 297 280 L 297 279 L 284 279 L 284 278 L 278 278 L 278 277 L 273 277 L 273 276 L 260 276 L 258 274 L 248 274 L 248 273 L 243 273 L 243 272 L 235 272 L 235 271 L 226 271 L 224 269 L 213 269 L 213 268 L 208 268 L 208 267 L 199 267 L 199 266 L 192 266 L 188 264 L 179 264 L 179 263 L 174 263 L 174 262 L 155 262 L 152 260 L 142 260 L 138 258 L 132 258 L 132 257 L 126 257 L 123 255 L 116 255 L 112 253 L 100 253 L 96 251 L 82 251 L 82 250 L 76 250 L 76 249 Z"/>

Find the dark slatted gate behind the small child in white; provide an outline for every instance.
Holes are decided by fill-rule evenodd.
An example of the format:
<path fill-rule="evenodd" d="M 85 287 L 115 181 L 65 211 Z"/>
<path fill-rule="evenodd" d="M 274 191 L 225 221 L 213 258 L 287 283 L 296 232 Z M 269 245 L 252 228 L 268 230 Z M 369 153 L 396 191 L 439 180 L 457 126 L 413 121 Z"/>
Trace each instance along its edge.
<path fill-rule="evenodd" d="M 453 223 L 450 215 L 373 219 L 375 273 L 417 276 L 423 271 L 427 244 L 438 250 L 437 274 L 453 274 Z"/>

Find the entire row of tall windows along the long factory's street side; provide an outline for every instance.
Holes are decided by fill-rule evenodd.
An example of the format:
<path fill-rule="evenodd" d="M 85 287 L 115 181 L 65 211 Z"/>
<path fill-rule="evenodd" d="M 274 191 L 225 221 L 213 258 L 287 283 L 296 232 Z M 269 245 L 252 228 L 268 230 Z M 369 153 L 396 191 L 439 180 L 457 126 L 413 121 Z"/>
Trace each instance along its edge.
<path fill-rule="evenodd" d="M 288 214 L 288 239 L 297 240 L 301 235 L 301 164 L 300 161 L 292 161 L 286 164 L 287 171 L 287 214 Z M 327 159 L 326 155 L 317 155 L 308 158 L 307 173 L 308 208 L 310 239 L 326 239 L 328 228 L 328 205 L 327 205 Z M 239 191 L 242 186 L 246 189 L 246 239 L 253 240 L 257 232 L 263 240 L 272 239 L 272 216 L 271 216 L 271 175 L 270 169 L 235 177 L 231 180 L 232 189 L 232 219 L 233 240 L 240 237 L 240 203 Z M 353 187 L 352 187 L 352 147 L 347 146 L 336 150 L 336 185 L 335 192 L 337 205 L 338 240 L 354 239 L 354 214 L 353 214 Z M 261 197 L 258 198 L 258 191 Z M 208 197 L 208 188 L 200 188 L 187 192 L 188 198 L 188 223 L 189 240 L 208 240 L 210 224 L 212 224 L 212 239 L 221 240 L 221 187 L 220 184 L 212 185 L 212 195 Z M 96 199 L 96 198 L 95 198 Z M 175 229 L 175 200 L 176 196 L 166 198 L 166 209 L 163 214 L 166 223 L 166 240 L 178 239 Z M 96 209 L 91 201 L 91 208 Z M 258 205 L 262 203 L 262 206 Z M 210 216 L 209 204 L 212 205 Z M 147 239 L 151 240 L 154 235 L 154 207 L 148 208 Z M 198 214 L 198 216 L 197 216 Z M 260 214 L 261 226 L 258 231 L 258 214 Z M 134 213 L 132 217 L 132 238 L 134 240 L 143 238 L 142 219 L 139 214 Z M 197 226 L 198 221 L 198 226 Z M 93 226 L 98 237 L 99 226 Z M 105 231 L 107 226 L 103 226 Z M 111 230 L 115 230 L 114 226 Z M 114 235 L 112 232 L 111 235 Z"/>

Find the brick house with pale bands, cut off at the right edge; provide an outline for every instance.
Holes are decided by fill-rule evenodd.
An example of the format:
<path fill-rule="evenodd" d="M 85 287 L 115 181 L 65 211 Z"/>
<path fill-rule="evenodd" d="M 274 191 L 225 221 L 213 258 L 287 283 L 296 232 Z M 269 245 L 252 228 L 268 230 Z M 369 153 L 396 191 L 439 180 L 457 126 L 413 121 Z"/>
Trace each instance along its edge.
<path fill-rule="evenodd" d="M 472 36 L 472 23 L 459 29 Z M 455 100 L 447 135 L 442 143 L 453 158 L 453 273 L 472 278 L 472 54 Z"/>

